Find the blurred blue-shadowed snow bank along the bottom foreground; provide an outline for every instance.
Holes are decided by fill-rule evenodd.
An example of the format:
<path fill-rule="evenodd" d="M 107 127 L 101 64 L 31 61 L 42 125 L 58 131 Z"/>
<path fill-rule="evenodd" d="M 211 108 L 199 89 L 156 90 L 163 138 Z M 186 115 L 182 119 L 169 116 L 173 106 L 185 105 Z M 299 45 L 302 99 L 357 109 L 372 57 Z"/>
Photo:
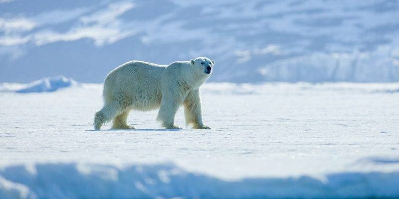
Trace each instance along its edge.
<path fill-rule="evenodd" d="M 0 198 L 358 198 L 399 197 L 399 172 L 338 173 L 225 181 L 172 164 L 37 164 L 0 171 Z"/>

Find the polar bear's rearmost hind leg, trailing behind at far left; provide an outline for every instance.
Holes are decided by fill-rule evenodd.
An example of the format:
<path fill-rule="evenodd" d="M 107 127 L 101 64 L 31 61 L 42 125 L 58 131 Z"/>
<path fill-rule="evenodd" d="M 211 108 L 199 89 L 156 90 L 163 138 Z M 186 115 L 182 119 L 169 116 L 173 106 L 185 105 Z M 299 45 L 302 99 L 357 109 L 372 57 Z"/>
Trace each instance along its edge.
<path fill-rule="evenodd" d="M 100 130 L 104 123 L 112 120 L 116 115 L 121 113 L 122 107 L 120 103 L 113 101 L 104 104 L 100 111 L 94 116 L 94 129 Z"/>

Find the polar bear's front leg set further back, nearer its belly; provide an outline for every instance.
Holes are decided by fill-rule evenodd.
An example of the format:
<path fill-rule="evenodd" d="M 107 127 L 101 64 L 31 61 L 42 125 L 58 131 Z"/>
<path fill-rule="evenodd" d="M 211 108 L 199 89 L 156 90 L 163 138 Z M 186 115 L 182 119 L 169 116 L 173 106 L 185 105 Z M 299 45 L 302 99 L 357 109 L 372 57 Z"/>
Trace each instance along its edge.
<path fill-rule="evenodd" d="M 157 116 L 157 120 L 161 122 L 162 126 L 165 128 L 180 128 L 175 125 L 175 115 L 181 101 L 175 92 L 169 91 L 162 96 L 161 107 Z"/>

